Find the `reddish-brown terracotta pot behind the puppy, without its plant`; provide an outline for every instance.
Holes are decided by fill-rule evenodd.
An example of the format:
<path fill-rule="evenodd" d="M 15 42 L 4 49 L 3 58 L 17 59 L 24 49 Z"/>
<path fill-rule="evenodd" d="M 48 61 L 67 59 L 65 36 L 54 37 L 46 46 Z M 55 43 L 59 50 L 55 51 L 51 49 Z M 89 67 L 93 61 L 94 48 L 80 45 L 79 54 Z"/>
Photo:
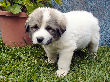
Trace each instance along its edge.
<path fill-rule="evenodd" d="M 26 19 L 27 15 L 24 12 L 14 15 L 8 11 L 0 11 L 0 28 L 3 43 L 10 47 L 24 47 L 31 44 L 31 40 L 25 32 Z"/>

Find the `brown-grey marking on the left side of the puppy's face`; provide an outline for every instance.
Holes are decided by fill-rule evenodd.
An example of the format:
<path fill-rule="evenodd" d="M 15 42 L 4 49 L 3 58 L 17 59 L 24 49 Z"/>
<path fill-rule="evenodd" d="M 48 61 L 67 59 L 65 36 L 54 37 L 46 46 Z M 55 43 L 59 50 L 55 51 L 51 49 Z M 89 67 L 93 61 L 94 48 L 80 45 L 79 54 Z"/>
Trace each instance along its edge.
<path fill-rule="evenodd" d="M 42 25 L 43 12 L 39 9 L 33 11 L 28 19 L 26 20 L 26 32 L 29 33 L 30 38 L 32 38 L 32 34 L 40 29 Z"/>

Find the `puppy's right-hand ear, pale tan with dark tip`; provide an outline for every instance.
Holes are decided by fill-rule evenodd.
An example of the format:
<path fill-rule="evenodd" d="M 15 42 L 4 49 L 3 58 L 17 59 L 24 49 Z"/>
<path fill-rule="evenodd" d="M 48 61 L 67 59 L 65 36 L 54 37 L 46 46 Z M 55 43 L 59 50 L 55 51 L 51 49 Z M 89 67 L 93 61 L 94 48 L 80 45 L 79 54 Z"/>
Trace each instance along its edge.
<path fill-rule="evenodd" d="M 51 10 L 50 15 L 51 19 L 53 19 L 55 25 L 57 26 L 56 28 L 57 35 L 61 36 L 66 31 L 67 24 L 64 14 L 55 9 Z"/>

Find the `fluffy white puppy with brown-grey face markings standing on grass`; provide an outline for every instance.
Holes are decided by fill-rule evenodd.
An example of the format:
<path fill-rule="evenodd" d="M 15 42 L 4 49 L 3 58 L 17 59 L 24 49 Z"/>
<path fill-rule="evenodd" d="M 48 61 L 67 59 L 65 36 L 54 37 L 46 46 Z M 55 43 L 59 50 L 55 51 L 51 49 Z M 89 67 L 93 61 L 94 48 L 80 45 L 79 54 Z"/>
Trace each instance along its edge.
<path fill-rule="evenodd" d="M 33 44 L 42 44 L 48 62 L 58 59 L 57 76 L 65 76 L 70 70 L 75 50 L 89 46 L 96 53 L 99 44 L 98 20 L 90 12 L 71 11 L 62 13 L 53 8 L 37 8 L 26 21 Z"/>

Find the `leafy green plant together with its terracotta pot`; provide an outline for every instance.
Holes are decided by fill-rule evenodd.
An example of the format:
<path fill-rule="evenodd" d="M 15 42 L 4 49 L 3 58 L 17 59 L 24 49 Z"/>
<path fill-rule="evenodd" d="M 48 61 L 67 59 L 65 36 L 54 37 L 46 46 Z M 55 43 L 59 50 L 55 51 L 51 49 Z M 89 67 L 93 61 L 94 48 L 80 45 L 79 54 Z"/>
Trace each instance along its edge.
<path fill-rule="evenodd" d="M 61 0 L 55 0 L 61 4 Z M 0 29 L 3 43 L 23 47 L 31 44 L 25 33 L 25 21 L 35 8 L 51 7 L 51 0 L 2 0 L 0 1 Z"/>

